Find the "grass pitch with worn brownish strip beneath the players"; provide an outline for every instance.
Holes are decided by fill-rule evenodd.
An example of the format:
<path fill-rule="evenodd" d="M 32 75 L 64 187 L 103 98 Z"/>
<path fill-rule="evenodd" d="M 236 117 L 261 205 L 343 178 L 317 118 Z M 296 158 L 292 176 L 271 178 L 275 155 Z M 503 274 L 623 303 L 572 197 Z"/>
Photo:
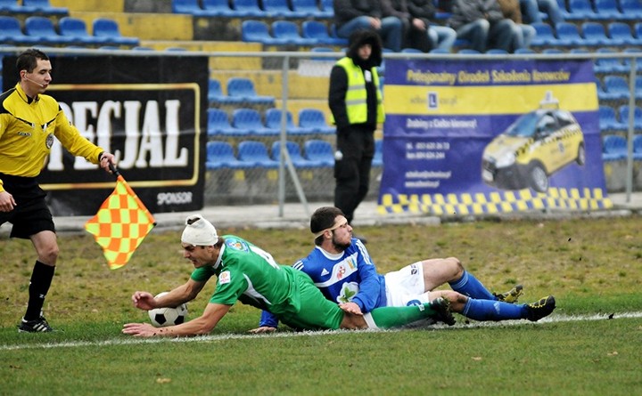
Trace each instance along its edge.
<path fill-rule="evenodd" d="M 215 219 L 213 219 L 215 220 Z M 457 256 L 493 291 L 523 283 L 523 302 L 556 295 L 538 323 L 476 323 L 380 332 L 247 335 L 259 311 L 237 304 L 211 335 L 139 340 L 147 320 L 129 296 L 187 279 L 179 232 L 152 232 L 110 271 L 89 235 L 60 237 L 45 303 L 54 334 L 18 334 L 35 260 L 29 241 L 0 240 L 0 394 L 631 394 L 642 389 L 642 243 L 638 216 L 360 228 L 381 272 Z M 293 263 L 308 230 L 219 230 Z M 189 303 L 200 315 L 213 283 Z M 613 314 L 613 319 L 608 319 Z"/>

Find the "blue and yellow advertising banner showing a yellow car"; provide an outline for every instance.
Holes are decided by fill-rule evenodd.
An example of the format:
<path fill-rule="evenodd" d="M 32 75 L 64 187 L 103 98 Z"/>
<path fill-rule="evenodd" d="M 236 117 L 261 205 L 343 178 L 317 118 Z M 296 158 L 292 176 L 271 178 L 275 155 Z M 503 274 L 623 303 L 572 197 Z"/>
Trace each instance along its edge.
<path fill-rule="evenodd" d="M 387 60 L 379 210 L 597 209 L 591 61 Z"/>

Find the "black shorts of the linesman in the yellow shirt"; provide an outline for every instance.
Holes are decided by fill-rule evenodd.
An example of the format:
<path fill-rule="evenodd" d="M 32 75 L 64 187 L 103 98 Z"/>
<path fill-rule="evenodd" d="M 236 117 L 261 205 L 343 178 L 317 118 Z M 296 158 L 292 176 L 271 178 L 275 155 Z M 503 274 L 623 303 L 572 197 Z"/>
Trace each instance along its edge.
<path fill-rule="evenodd" d="M 12 223 L 11 238 L 29 239 L 40 231 L 55 232 L 53 217 L 46 205 L 46 193 L 36 178 L 0 174 L 4 190 L 15 199 L 17 206 L 11 212 L 0 212 L 0 225 Z"/>

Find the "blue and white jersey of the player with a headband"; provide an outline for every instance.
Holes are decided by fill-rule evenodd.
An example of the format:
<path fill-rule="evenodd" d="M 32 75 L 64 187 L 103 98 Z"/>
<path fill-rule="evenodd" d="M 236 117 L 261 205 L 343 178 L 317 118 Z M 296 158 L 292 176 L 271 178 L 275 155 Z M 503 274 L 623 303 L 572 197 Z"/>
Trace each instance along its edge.
<path fill-rule="evenodd" d="M 351 301 L 364 313 L 386 306 L 385 278 L 377 273 L 366 246 L 357 238 L 352 238 L 350 246 L 338 255 L 315 246 L 308 257 L 292 267 L 307 273 L 325 298 L 334 303 Z M 259 326 L 276 324 L 276 319 L 264 312 Z"/>

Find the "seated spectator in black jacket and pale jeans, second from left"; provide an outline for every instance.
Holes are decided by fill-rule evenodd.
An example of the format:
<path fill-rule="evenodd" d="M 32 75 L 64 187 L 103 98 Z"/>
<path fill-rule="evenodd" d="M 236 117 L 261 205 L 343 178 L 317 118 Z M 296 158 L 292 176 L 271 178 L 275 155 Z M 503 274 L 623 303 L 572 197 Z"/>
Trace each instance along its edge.
<path fill-rule="evenodd" d="M 435 15 L 432 0 L 382 0 L 383 15 L 392 15 L 404 23 L 406 46 L 429 52 L 432 48 L 450 51 L 457 32 L 431 23 Z"/>

